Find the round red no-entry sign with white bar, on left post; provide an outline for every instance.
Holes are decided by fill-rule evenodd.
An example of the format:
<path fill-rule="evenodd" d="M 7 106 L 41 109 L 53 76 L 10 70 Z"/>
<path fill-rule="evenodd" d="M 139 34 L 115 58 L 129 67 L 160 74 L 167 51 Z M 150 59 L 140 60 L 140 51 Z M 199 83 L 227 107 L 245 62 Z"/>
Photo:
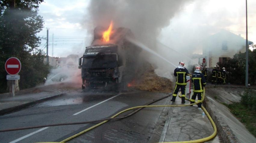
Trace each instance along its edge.
<path fill-rule="evenodd" d="M 5 70 L 9 75 L 16 75 L 21 70 L 21 61 L 15 57 L 9 58 L 5 62 Z"/>

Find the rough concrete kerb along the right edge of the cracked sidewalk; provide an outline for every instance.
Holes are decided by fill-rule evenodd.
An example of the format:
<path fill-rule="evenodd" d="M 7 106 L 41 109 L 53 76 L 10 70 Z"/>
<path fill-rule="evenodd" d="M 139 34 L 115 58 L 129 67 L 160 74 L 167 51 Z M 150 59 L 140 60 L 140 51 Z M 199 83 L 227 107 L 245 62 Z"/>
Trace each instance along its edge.
<path fill-rule="evenodd" d="M 216 111 L 214 111 L 214 105 L 210 104 L 210 101 L 207 97 L 205 97 L 203 104 L 205 105 L 207 112 L 210 114 L 213 121 L 215 122 L 215 125 L 217 126 L 217 130 L 218 130 L 217 133 L 221 138 L 221 140 L 223 140 L 223 142 L 226 142 L 226 143 L 239 142 L 238 138 L 234 135 L 230 127 L 222 119 L 219 113 L 216 113 Z"/>

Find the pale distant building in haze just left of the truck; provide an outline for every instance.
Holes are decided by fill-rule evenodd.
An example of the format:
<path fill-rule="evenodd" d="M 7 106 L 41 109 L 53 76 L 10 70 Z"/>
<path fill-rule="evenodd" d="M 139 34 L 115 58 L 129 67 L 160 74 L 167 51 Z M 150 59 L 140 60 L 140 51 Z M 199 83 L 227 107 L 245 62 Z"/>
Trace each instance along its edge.
<path fill-rule="evenodd" d="M 74 69 L 78 67 L 78 55 L 69 55 L 67 57 L 61 57 L 57 59 L 57 67 L 66 67 Z"/>

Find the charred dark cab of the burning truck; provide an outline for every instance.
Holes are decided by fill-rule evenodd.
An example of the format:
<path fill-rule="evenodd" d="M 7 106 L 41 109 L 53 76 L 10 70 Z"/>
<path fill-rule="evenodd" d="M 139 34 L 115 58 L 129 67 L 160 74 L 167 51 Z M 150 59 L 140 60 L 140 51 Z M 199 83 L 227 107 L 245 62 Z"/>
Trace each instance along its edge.
<path fill-rule="evenodd" d="M 83 61 L 82 61 L 83 59 Z M 115 44 L 89 46 L 79 58 L 82 70 L 82 89 L 116 87 L 121 82 L 123 60 Z"/>

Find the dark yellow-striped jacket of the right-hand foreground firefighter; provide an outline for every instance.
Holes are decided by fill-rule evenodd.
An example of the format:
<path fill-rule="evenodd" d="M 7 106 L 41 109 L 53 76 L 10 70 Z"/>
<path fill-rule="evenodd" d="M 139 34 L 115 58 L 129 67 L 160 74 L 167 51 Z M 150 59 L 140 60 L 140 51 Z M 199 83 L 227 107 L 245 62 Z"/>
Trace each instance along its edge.
<path fill-rule="evenodd" d="M 195 71 L 195 73 L 192 75 L 192 81 L 193 92 L 203 92 L 203 87 L 206 85 L 206 79 L 204 75 L 199 71 Z"/>

